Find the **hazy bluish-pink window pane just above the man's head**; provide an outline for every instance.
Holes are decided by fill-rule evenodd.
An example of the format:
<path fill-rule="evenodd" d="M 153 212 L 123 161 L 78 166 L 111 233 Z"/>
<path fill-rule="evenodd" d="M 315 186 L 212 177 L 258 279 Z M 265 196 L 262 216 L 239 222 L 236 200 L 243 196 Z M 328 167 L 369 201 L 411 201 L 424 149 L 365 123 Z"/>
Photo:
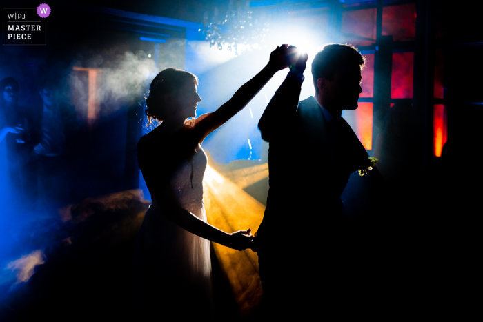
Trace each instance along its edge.
<path fill-rule="evenodd" d="M 377 10 L 351 10 L 342 12 L 341 42 L 353 46 L 371 46 L 376 38 Z"/>

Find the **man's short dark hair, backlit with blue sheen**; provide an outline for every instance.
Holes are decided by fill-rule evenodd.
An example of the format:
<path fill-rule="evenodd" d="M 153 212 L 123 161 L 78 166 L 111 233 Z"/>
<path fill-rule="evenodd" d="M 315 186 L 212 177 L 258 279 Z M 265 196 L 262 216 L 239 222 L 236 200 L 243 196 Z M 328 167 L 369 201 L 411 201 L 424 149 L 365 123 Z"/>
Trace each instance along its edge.
<path fill-rule="evenodd" d="M 317 52 L 312 62 L 315 92 L 319 92 L 317 79 L 324 77 L 333 81 L 335 74 L 341 72 L 346 66 L 358 65 L 362 69 L 365 63 L 366 58 L 354 46 L 342 45 L 342 43 L 327 44 Z"/>

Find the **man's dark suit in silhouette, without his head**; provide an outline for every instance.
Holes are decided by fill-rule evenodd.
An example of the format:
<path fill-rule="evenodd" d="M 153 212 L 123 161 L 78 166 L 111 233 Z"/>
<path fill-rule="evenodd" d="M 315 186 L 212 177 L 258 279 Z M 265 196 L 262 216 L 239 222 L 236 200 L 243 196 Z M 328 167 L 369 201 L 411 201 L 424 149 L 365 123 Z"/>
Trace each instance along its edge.
<path fill-rule="evenodd" d="M 284 299 L 308 305 L 309 288 L 337 283 L 331 280 L 338 279 L 339 255 L 347 255 L 351 236 L 340 196 L 368 160 L 342 117 L 328 121 L 314 97 L 298 101 L 301 85 L 290 72 L 259 121 L 270 143 L 270 190 L 257 252 L 264 294 L 277 305 Z"/>

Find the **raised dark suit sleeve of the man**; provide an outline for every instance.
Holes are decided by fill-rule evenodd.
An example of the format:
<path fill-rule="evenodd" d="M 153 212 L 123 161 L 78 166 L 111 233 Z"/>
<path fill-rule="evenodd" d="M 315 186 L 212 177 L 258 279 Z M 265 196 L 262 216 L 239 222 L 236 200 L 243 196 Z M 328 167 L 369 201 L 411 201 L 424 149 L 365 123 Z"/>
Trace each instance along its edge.
<path fill-rule="evenodd" d="M 270 142 L 273 138 L 283 139 L 290 135 L 290 121 L 296 116 L 303 81 L 302 72 L 290 70 L 258 122 L 262 139 Z"/>

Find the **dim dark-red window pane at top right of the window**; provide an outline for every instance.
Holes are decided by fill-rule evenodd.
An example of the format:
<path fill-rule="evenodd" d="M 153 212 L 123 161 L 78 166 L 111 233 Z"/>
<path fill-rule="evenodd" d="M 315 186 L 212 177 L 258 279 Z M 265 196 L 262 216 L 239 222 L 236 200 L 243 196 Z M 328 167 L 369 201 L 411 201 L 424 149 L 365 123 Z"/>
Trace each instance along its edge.
<path fill-rule="evenodd" d="M 382 35 L 393 41 L 412 41 L 416 34 L 416 5 L 408 3 L 388 6 L 382 10 Z"/>

